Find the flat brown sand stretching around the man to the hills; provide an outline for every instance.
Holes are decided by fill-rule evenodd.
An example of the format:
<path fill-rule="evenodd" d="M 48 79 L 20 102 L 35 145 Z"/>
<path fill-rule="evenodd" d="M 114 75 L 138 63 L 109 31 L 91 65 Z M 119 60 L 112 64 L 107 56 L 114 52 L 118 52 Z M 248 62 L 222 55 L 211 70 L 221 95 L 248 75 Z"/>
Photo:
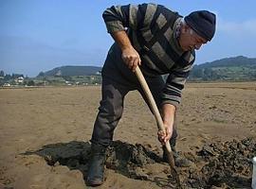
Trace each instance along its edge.
<path fill-rule="evenodd" d="M 87 142 L 100 99 L 100 86 L 0 89 L 0 188 L 86 188 Z M 145 102 L 131 92 L 124 106 L 115 141 L 160 157 L 155 119 Z M 195 157 L 212 143 L 255 140 L 255 115 L 256 82 L 189 83 L 178 109 L 177 149 Z M 99 188 L 168 187 L 168 164 L 146 163 L 139 171 L 150 177 L 133 178 L 110 164 Z"/>

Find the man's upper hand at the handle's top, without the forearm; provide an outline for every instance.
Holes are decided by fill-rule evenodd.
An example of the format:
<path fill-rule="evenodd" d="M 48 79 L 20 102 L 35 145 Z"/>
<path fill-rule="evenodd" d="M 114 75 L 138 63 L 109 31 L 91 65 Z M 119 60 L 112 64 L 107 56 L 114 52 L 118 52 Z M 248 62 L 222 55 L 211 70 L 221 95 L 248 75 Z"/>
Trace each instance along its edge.
<path fill-rule="evenodd" d="M 136 71 L 137 66 L 141 63 L 139 55 L 133 46 L 130 46 L 130 48 L 123 49 L 121 58 L 128 66 L 128 68 L 130 68 L 133 72 Z"/>

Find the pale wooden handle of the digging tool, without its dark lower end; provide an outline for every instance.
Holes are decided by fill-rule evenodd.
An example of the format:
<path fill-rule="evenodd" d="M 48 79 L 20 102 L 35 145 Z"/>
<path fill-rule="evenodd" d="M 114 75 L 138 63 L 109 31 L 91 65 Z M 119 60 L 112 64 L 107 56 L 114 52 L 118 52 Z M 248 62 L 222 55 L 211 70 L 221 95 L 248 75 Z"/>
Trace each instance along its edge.
<path fill-rule="evenodd" d="M 153 95 L 152 95 L 152 93 L 151 93 L 151 91 L 150 91 L 150 89 L 149 89 L 149 86 L 148 86 L 148 84 L 147 84 L 147 81 L 146 81 L 145 77 L 143 77 L 143 74 L 141 73 L 141 71 L 140 71 L 140 69 L 139 69 L 138 66 L 137 66 L 137 68 L 136 68 L 135 74 L 136 74 L 136 76 L 137 76 L 137 79 L 138 79 L 138 81 L 139 81 L 139 83 L 140 83 L 140 85 L 141 85 L 141 87 L 142 87 L 144 93 L 146 94 L 146 96 L 147 96 L 147 98 L 148 98 L 148 100 L 149 100 L 149 104 L 150 104 L 151 109 L 152 109 L 152 111 L 153 111 L 153 113 L 154 113 L 154 115 L 155 115 L 155 120 L 156 120 L 158 129 L 165 132 L 165 128 L 164 128 L 164 125 L 163 125 L 163 120 L 162 120 L 161 114 L 160 114 L 160 112 L 158 111 L 158 108 L 157 108 L 157 106 L 156 106 L 156 104 L 155 104 L 155 99 L 154 99 L 154 97 L 153 97 Z M 166 149 L 167 149 L 169 152 L 172 151 L 172 148 L 171 148 L 171 146 L 170 146 L 169 141 L 167 141 L 167 143 L 165 144 L 165 146 L 166 146 Z"/>

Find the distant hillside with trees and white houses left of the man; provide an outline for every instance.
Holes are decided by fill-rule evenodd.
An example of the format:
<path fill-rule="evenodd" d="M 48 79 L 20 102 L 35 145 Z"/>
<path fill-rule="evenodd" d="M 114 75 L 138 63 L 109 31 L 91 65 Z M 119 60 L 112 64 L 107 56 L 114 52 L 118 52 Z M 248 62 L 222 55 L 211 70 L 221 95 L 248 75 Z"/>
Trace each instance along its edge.
<path fill-rule="evenodd" d="M 24 77 L 20 74 L 5 75 L 0 71 L 0 86 L 60 86 L 60 85 L 98 85 L 101 84 L 101 67 L 63 66 L 37 77 Z"/>

